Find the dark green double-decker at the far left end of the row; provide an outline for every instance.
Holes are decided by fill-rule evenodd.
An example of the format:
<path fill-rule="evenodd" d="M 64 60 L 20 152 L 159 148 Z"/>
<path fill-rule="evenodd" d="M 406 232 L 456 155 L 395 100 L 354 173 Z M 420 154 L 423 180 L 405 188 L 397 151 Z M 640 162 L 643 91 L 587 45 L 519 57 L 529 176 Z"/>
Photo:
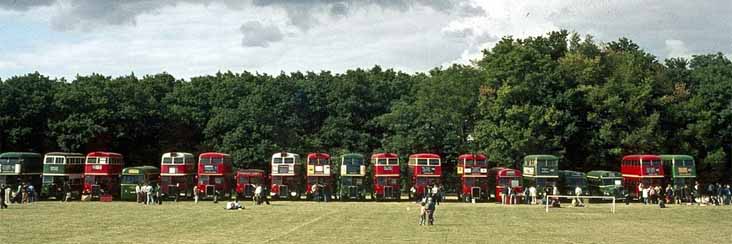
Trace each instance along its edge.
<path fill-rule="evenodd" d="M 31 184 L 35 191 L 41 190 L 41 154 L 32 152 L 6 152 L 0 154 L 0 185 L 17 190 L 22 183 Z"/>

